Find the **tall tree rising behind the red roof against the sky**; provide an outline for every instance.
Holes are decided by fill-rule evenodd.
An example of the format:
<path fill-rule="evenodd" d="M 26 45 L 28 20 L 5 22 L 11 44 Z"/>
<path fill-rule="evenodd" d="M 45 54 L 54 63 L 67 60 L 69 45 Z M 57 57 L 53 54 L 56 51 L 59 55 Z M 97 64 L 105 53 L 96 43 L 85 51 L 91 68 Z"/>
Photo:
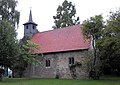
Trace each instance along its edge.
<path fill-rule="evenodd" d="M 72 2 L 68 2 L 67 0 L 65 0 L 62 3 L 62 6 L 58 6 L 56 16 L 53 16 L 53 19 L 55 20 L 55 26 L 53 26 L 53 28 L 58 29 L 79 24 L 79 17 L 75 19 L 75 14 L 75 5 L 73 5 Z"/>

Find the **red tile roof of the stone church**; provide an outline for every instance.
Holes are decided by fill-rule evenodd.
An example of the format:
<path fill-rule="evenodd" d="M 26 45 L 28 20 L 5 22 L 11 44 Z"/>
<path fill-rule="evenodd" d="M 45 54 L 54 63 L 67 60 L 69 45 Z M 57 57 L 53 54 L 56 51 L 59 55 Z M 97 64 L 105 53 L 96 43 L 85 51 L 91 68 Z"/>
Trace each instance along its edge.
<path fill-rule="evenodd" d="M 32 41 L 41 47 L 34 53 L 82 50 L 90 47 L 89 40 L 83 37 L 80 25 L 39 32 L 33 35 Z"/>

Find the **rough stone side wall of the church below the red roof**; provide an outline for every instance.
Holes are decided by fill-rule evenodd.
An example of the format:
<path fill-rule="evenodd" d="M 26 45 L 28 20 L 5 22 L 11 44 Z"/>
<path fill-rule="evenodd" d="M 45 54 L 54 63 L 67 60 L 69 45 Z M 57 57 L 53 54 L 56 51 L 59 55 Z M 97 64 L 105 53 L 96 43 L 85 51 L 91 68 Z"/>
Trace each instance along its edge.
<path fill-rule="evenodd" d="M 37 57 L 41 65 L 32 66 L 29 75 L 37 78 L 56 78 L 57 75 L 61 79 L 72 79 L 75 75 L 76 79 L 86 79 L 88 78 L 88 69 L 85 53 L 85 51 L 71 51 L 43 54 L 43 56 Z M 74 57 L 75 64 L 81 64 L 75 66 L 74 73 L 70 70 L 70 57 Z M 46 60 L 50 60 L 50 67 L 46 67 Z"/>

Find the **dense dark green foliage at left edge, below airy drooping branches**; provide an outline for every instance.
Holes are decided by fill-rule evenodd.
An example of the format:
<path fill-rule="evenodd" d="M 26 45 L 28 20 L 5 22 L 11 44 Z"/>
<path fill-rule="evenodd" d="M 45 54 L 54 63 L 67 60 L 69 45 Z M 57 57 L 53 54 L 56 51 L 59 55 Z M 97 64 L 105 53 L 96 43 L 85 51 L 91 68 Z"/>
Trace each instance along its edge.
<path fill-rule="evenodd" d="M 0 21 L 0 64 L 11 67 L 17 55 L 16 33 L 7 20 Z"/>

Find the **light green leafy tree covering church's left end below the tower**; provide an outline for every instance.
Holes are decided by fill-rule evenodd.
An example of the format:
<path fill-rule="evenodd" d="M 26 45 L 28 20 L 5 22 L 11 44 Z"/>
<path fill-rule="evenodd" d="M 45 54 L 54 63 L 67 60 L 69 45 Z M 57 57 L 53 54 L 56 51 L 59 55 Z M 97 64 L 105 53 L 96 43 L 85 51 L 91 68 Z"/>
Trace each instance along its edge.
<path fill-rule="evenodd" d="M 29 64 L 40 64 L 36 59 L 37 54 L 32 54 L 35 49 L 39 46 L 30 40 L 25 41 L 23 44 L 19 44 L 19 55 L 17 57 L 17 62 L 13 66 L 13 70 L 17 71 L 19 77 L 23 77 L 23 72 L 28 67 Z"/>

